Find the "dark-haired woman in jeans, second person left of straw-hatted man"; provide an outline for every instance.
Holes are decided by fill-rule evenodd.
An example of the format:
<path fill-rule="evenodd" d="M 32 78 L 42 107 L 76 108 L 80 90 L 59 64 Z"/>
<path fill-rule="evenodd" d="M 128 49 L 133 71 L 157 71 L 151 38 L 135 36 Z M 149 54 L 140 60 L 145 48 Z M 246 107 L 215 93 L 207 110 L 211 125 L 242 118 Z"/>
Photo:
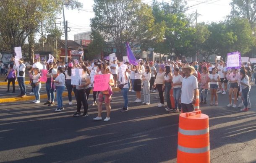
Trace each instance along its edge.
<path fill-rule="evenodd" d="M 163 88 L 165 89 L 165 101 L 167 103 L 167 108 L 165 108 L 166 111 L 173 111 L 170 99 L 170 90 L 172 88 L 172 73 L 170 66 L 165 67 L 165 75 L 164 75 L 165 83 L 163 85 Z"/>

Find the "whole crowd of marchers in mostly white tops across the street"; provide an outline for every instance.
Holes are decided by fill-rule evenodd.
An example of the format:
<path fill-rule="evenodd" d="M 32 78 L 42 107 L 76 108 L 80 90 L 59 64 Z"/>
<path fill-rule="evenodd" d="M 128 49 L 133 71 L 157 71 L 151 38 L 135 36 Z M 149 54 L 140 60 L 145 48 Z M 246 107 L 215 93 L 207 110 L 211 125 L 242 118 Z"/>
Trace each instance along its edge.
<path fill-rule="evenodd" d="M 122 71 L 122 64 L 127 65 L 126 70 Z M 72 85 L 72 69 L 82 69 L 81 83 Z M 151 104 L 150 93 L 158 92 L 159 103 L 157 107 L 165 107 L 166 111 L 183 112 L 194 111 L 196 96 L 200 96 L 201 104 L 206 104 L 208 91 L 211 92 L 209 105 L 218 105 L 218 93 L 226 94 L 229 92 L 227 107 L 242 108 L 240 111 L 248 111 L 251 108 L 249 92 L 251 90 L 251 80 L 256 78 L 256 67 L 251 64 L 242 65 L 240 69 L 232 68 L 227 70 L 223 60 L 215 60 L 215 63 L 202 62 L 179 62 L 177 61 L 140 61 L 138 65 L 130 65 L 129 62 L 112 62 L 104 60 L 78 62 L 49 62 L 45 60 L 34 60 L 32 66 L 25 65 L 24 60 L 20 59 L 16 64 L 14 60 L 9 65 L 6 74 L 8 80 L 8 92 L 10 83 L 15 92 L 15 81 L 18 81 L 21 93 L 18 96 L 26 97 L 25 72 L 29 71 L 31 81 L 31 94 L 34 94 L 34 103 L 40 103 L 40 71 L 47 70 L 47 81 L 45 84 L 47 92 L 47 106 L 55 106 L 55 92 L 57 109 L 62 111 L 63 91 L 65 87 L 68 92 L 69 105 L 72 105 L 72 91 L 76 98 L 77 110 L 73 116 L 88 116 L 88 98 L 94 87 L 93 75 L 110 74 L 109 87 L 105 91 L 93 91 L 92 106 L 97 105 L 98 115 L 94 120 L 102 119 L 102 104 L 105 103 L 107 116 L 104 121 L 110 120 L 112 88 L 120 88 L 124 99 L 123 108 L 120 111 L 128 111 L 128 92 L 136 92 L 135 103 L 143 105 Z M 17 73 L 16 73 L 17 71 Z M 251 75 L 253 73 L 253 75 Z M 252 78 L 253 77 L 253 78 Z M 256 81 L 255 81 L 256 83 Z M 199 89 L 199 95 L 197 95 Z M 171 91 L 172 90 L 172 91 Z M 141 92 L 143 101 L 141 101 Z M 164 96 L 165 95 L 165 96 Z M 232 96 L 233 95 L 233 96 Z M 232 97 L 234 102 L 232 103 Z M 173 98 L 173 101 L 171 100 Z M 166 105 L 165 105 L 166 102 Z M 81 107 L 84 113 L 81 114 Z"/>

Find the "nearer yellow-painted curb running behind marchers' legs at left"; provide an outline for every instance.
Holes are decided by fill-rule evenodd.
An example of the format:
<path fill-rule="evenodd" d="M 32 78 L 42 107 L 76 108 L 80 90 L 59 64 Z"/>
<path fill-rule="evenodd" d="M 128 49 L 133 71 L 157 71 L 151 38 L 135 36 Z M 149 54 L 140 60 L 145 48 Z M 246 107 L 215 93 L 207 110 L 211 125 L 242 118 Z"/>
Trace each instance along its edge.
<path fill-rule="evenodd" d="M 119 88 L 112 88 L 113 92 L 119 92 L 120 89 Z M 93 91 L 91 90 L 91 93 Z M 90 93 L 90 94 L 91 94 Z M 74 95 L 73 91 L 72 91 L 72 95 Z M 56 96 L 56 93 L 55 93 Z M 62 94 L 63 97 L 68 96 L 68 92 L 63 92 Z M 40 94 L 40 99 L 44 99 L 47 98 L 47 94 Z M 11 98 L 0 98 L 0 103 L 7 103 L 7 102 L 16 102 L 16 101 L 29 101 L 29 100 L 34 100 L 35 96 L 31 95 L 31 96 L 26 96 L 26 97 L 11 97 Z"/>

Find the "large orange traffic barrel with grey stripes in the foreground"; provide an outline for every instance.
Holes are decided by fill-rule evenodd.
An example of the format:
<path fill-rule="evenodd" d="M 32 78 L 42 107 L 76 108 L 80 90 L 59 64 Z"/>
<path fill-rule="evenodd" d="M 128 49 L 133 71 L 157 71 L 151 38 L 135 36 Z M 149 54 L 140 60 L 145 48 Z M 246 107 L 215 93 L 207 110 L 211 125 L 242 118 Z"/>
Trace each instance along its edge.
<path fill-rule="evenodd" d="M 209 117 L 201 110 L 181 113 L 177 163 L 210 163 Z"/>

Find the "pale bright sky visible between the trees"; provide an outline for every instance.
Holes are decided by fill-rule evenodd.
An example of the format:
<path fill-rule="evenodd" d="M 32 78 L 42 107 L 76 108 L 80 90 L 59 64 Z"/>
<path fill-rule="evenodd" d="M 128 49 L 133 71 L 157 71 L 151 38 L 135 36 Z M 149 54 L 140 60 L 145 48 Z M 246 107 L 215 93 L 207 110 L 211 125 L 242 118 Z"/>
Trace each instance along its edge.
<path fill-rule="evenodd" d="M 65 20 L 68 21 L 68 27 L 70 27 L 71 29 L 71 31 L 68 32 L 68 40 L 73 40 L 74 34 L 90 31 L 90 19 L 94 17 L 94 0 L 78 1 L 84 4 L 81 10 L 64 9 Z M 162 3 L 162 0 L 158 1 Z M 152 3 L 152 0 L 143 0 L 143 2 L 150 5 Z M 172 2 L 172 0 L 163 0 L 163 2 L 170 3 Z M 199 23 L 223 21 L 231 11 L 231 6 L 229 5 L 231 0 L 187 0 L 187 2 L 187 7 L 190 7 L 192 5 L 195 6 L 188 8 L 188 11 L 186 13 L 196 13 L 196 10 L 198 10 L 198 13 L 200 14 L 198 17 Z M 57 21 L 63 21 L 63 15 L 60 15 L 59 18 L 61 19 L 58 19 Z M 64 37 L 62 39 L 64 39 Z"/>

